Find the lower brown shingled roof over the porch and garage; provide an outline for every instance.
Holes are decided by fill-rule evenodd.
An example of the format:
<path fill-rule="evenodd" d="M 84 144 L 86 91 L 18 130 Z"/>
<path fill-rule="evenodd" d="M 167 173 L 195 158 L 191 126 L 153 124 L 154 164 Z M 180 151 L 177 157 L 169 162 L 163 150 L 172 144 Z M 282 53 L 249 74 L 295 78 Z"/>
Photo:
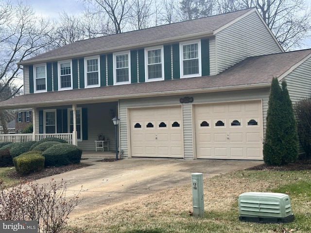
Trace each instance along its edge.
<path fill-rule="evenodd" d="M 26 94 L 1 102 L 0 109 L 269 87 L 273 77 L 283 78 L 310 56 L 311 49 L 283 52 L 246 58 L 212 76 Z"/>

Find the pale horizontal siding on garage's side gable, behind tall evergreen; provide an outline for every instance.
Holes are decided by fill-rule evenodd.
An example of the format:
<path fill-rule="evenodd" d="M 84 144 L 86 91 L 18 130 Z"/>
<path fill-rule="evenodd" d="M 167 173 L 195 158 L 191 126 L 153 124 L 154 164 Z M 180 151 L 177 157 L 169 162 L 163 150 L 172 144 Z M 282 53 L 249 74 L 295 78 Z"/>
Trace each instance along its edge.
<path fill-rule="evenodd" d="M 311 98 L 311 58 L 295 68 L 284 80 L 291 100 L 294 102 L 301 99 Z M 280 81 L 281 83 L 282 81 Z"/>

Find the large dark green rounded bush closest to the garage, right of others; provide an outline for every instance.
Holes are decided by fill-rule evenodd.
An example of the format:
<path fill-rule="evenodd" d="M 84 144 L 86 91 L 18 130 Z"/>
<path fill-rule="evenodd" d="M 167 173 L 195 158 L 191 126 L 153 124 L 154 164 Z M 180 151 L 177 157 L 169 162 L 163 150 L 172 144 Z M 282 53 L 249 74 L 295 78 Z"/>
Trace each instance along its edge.
<path fill-rule="evenodd" d="M 57 144 L 45 150 L 45 166 L 64 166 L 78 164 L 81 160 L 82 150 L 71 144 Z"/>

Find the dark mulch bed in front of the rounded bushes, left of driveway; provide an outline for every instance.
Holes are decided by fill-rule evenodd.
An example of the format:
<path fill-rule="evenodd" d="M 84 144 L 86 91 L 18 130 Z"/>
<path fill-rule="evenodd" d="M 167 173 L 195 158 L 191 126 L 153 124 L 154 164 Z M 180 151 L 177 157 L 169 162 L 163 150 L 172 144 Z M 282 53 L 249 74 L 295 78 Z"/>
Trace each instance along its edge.
<path fill-rule="evenodd" d="M 67 166 L 51 166 L 51 167 L 44 167 L 43 170 L 37 171 L 28 175 L 21 175 L 17 173 L 15 168 L 12 168 L 12 170 L 7 174 L 7 177 L 12 179 L 19 179 L 19 180 L 26 180 L 26 181 L 34 181 L 39 180 L 48 176 L 53 176 L 57 174 L 61 174 L 67 171 L 79 169 L 82 167 L 90 166 L 87 164 L 70 164 Z"/>

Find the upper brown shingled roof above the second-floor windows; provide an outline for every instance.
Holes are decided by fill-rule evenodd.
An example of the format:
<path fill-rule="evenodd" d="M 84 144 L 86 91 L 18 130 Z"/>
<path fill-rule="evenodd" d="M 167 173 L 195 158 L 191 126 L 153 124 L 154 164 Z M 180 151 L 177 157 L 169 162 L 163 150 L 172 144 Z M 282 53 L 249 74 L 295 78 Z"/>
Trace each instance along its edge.
<path fill-rule="evenodd" d="M 256 8 L 250 8 L 138 31 L 76 41 L 61 48 L 32 57 L 18 64 L 27 65 L 36 62 L 55 61 L 70 57 L 81 57 L 111 51 L 126 50 L 128 48 L 142 48 L 155 43 L 172 43 L 174 40 L 178 41 L 193 36 L 210 36 L 221 27 L 232 23 L 235 19 L 254 11 L 256 11 Z"/>

